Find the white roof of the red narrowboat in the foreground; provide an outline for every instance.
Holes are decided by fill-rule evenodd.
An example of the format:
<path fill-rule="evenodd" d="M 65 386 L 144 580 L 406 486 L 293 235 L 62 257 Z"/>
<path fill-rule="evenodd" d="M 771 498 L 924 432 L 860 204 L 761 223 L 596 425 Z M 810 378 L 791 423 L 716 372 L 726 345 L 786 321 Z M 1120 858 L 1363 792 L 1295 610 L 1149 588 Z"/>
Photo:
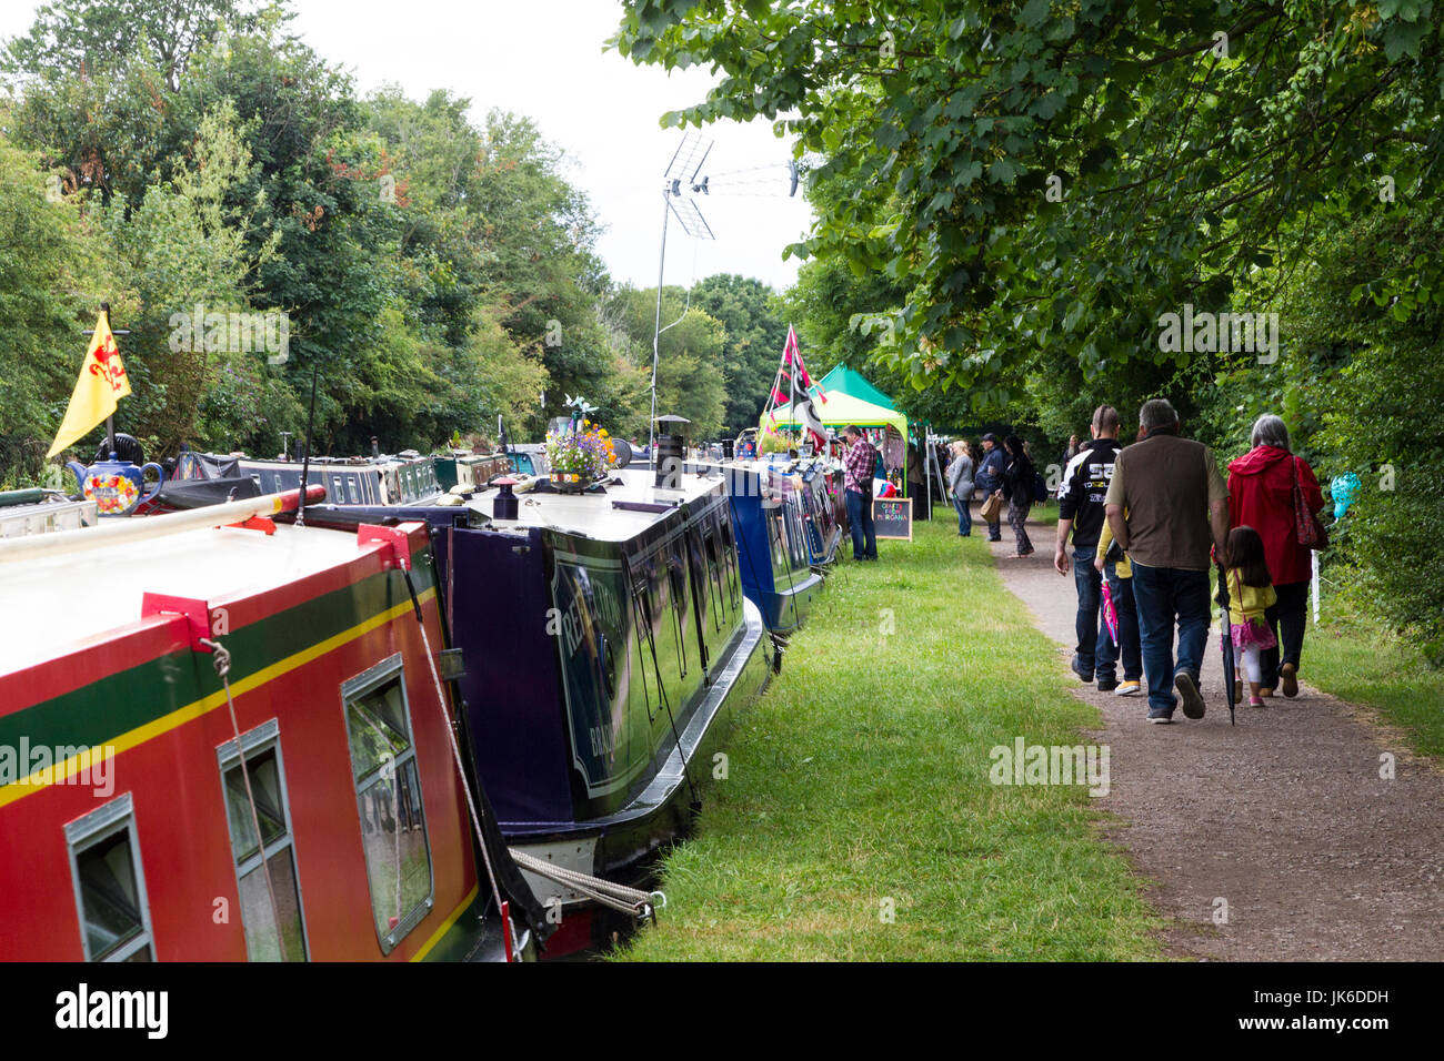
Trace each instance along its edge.
<path fill-rule="evenodd" d="M 355 556 L 354 531 L 279 524 L 273 536 L 212 527 L 0 563 L 0 674 L 64 655 L 139 621 L 146 593 L 202 601 L 248 596 Z"/>

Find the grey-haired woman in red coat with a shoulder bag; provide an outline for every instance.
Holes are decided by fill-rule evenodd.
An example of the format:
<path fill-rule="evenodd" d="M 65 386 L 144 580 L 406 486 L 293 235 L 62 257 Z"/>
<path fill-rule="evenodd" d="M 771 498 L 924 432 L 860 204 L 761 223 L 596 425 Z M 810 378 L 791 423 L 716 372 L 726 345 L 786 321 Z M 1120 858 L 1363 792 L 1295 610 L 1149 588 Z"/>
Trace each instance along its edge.
<path fill-rule="evenodd" d="M 1278 647 L 1261 654 L 1261 686 L 1272 696 L 1282 681 L 1284 696 L 1298 694 L 1298 661 L 1304 652 L 1304 609 L 1313 577 L 1310 550 L 1298 544 L 1294 523 L 1294 476 L 1304 488 L 1310 511 L 1324 507 L 1314 469 L 1288 446 L 1288 427 L 1272 414 L 1253 424 L 1253 449 L 1229 463 L 1232 527 L 1252 527 L 1264 538 L 1264 559 L 1278 601 L 1264 618 Z M 1282 655 L 1282 663 L 1279 657 Z"/>

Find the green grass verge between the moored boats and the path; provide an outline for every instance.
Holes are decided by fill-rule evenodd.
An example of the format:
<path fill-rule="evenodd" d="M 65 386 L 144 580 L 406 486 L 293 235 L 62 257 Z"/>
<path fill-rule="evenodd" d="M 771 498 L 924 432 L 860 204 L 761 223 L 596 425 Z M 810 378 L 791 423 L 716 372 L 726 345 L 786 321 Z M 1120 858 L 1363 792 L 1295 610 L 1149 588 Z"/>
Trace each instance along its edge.
<path fill-rule="evenodd" d="M 982 536 L 934 520 L 879 551 L 829 580 L 666 857 L 660 924 L 611 957 L 1160 957 L 1086 788 L 989 782 L 993 746 L 1077 745 L 1099 717 Z"/>

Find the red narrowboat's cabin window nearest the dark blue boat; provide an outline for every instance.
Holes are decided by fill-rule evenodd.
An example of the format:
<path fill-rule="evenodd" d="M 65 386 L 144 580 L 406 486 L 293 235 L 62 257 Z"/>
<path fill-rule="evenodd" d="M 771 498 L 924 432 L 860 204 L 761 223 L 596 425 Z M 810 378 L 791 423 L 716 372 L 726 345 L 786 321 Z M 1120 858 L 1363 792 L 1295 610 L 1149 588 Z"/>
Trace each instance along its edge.
<path fill-rule="evenodd" d="M 371 883 L 371 912 L 381 951 L 390 954 L 435 901 L 422 778 L 400 652 L 347 681 L 341 696 Z"/>

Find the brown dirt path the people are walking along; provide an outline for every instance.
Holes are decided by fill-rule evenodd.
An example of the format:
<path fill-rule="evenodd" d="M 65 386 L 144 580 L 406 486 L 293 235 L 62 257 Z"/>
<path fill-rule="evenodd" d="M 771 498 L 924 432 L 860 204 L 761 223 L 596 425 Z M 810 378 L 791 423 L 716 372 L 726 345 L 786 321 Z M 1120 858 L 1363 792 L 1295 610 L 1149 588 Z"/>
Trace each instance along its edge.
<path fill-rule="evenodd" d="M 976 515 L 975 515 L 976 520 Z M 975 533 L 986 527 L 975 523 Z M 1076 644 L 1073 575 L 1053 569 L 1054 528 L 1028 534 L 1037 553 L 992 546 L 1004 582 L 1058 642 Z M 1121 818 L 1110 830 L 1157 882 L 1155 908 L 1178 921 L 1175 953 L 1217 960 L 1440 960 L 1444 957 L 1444 772 L 1353 704 L 1301 684 L 1300 694 L 1239 707 L 1229 728 L 1217 625 L 1204 654 L 1206 717 L 1178 710 L 1171 726 L 1144 720 L 1145 697 L 1076 684 L 1097 704 Z M 1308 642 L 1304 668 L 1308 670 Z M 1380 755 L 1396 756 L 1380 780 Z M 1216 924 L 1217 899 L 1227 922 Z"/>

